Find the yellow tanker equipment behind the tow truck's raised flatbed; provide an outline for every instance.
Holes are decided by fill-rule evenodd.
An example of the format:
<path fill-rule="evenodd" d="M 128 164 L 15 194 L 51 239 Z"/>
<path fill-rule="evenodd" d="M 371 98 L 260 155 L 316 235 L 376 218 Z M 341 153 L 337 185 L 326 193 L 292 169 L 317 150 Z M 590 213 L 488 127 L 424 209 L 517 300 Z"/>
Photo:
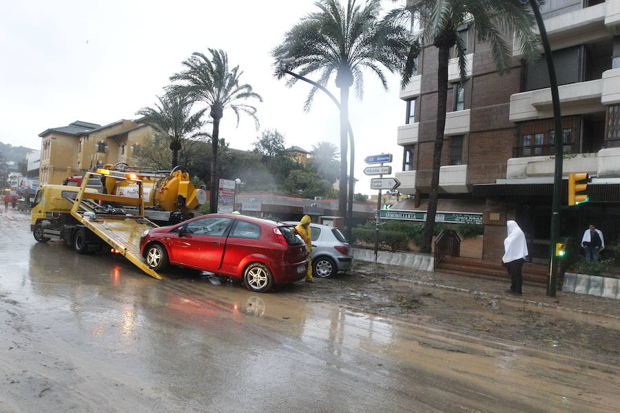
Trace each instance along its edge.
<path fill-rule="evenodd" d="M 105 192 L 124 197 L 137 198 L 138 185 L 135 180 L 118 180 L 115 174 L 132 173 L 142 182 L 141 197 L 147 210 L 180 212 L 183 217 L 207 202 L 207 192 L 196 188 L 189 173 L 173 169 L 172 171 L 147 171 L 141 167 L 129 167 L 125 164 L 105 165 Z M 147 213 L 147 216 L 154 216 Z M 191 215 L 189 215 L 191 216 Z M 157 218 L 156 218 L 157 219 Z"/>

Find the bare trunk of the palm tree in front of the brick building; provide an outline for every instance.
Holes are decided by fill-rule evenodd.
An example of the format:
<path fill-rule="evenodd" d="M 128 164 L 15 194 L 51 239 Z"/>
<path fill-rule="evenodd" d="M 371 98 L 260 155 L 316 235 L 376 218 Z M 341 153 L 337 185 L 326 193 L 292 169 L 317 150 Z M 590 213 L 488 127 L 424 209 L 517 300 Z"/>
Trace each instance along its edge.
<path fill-rule="evenodd" d="M 446 106 L 448 98 L 448 57 L 449 47 L 439 47 L 437 58 L 437 132 L 433 147 L 433 174 L 431 176 L 431 192 L 428 194 L 428 209 L 426 209 L 426 223 L 422 235 L 421 253 L 431 253 L 433 230 L 435 229 L 435 214 L 437 213 L 437 199 L 439 198 L 439 174 L 442 165 L 442 147 L 444 146 L 444 128 L 446 127 Z"/>

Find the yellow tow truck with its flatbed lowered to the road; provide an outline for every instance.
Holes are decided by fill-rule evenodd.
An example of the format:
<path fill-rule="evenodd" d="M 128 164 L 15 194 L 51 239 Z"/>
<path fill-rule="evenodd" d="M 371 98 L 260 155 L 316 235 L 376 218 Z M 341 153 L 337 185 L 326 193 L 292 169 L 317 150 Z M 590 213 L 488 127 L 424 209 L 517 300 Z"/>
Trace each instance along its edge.
<path fill-rule="evenodd" d="M 139 196 L 110 195 L 87 188 L 89 178 L 101 176 L 136 184 Z M 135 207 L 137 214 L 127 214 L 114 204 Z M 97 169 L 85 173 L 81 187 L 43 185 L 34 197 L 31 214 L 30 229 L 38 242 L 64 240 L 82 254 L 110 248 L 148 275 L 161 279 L 140 254 L 143 233 L 157 225 L 144 216 L 142 180 L 135 173 Z"/>

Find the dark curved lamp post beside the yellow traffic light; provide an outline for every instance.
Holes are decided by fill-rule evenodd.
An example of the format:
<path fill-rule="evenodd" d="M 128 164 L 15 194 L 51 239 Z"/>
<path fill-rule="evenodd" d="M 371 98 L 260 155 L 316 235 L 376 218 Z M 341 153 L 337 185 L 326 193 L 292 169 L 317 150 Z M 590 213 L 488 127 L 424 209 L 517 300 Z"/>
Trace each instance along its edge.
<path fill-rule="evenodd" d="M 559 92 L 557 89 L 557 78 L 555 76 L 555 65 L 553 63 L 553 56 L 551 55 L 551 46 L 549 45 L 549 39 L 547 37 L 547 30 L 545 29 L 545 23 L 540 14 L 540 7 L 538 0 L 521 0 L 521 3 L 527 3 L 530 1 L 530 6 L 536 17 L 538 23 L 538 30 L 540 32 L 541 41 L 543 43 L 545 58 L 547 60 L 547 70 L 549 72 L 549 81 L 551 87 L 551 100 L 553 105 L 553 123 L 555 129 L 555 173 L 553 176 L 553 200 L 551 205 L 551 237 L 550 237 L 550 266 L 549 275 L 547 277 L 547 295 L 549 297 L 555 297 L 557 288 L 557 273 L 558 273 L 558 260 L 555 255 L 555 244 L 559 241 L 560 237 L 560 223 L 561 223 L 561 197 L 562 197 L 562 162 L 564 160 L 562 152 L 562 118 L 561 109 L 559 103 Z"/>

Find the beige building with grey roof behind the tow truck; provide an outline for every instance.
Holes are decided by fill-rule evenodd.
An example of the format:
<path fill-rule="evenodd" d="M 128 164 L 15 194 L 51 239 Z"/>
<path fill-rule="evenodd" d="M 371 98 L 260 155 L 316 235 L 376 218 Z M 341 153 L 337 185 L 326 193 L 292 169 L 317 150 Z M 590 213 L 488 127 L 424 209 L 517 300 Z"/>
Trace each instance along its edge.
<path fill-rule="evenodd" d="M 46 129 L 41 136 L 41 184 L 61 184 L 99 164 L 132 164 L 134 149 L 154 130 L 134 120 L 121 119 L 101 126 L 76 120 Z"/>

